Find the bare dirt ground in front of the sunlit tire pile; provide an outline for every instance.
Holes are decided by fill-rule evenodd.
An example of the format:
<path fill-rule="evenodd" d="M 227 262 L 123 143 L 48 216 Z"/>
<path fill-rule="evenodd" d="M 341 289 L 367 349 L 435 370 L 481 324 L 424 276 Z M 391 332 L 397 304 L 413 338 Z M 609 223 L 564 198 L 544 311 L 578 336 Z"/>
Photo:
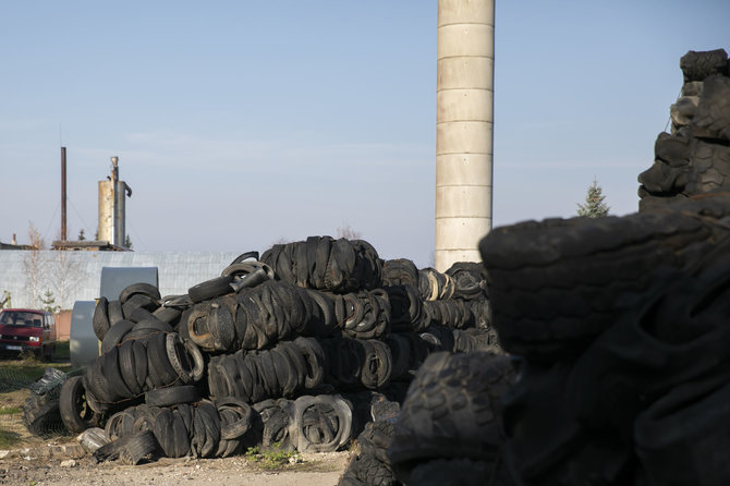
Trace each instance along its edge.
<path fill-rule="evenodd" d="M 300 454 L 300 461 L 267 470 L 245 457 L 168 459 L 139 465 L 96 463 L 75 442 L 14 450 L 0 459 L 3 485 L 337 485 L 353 452 Z M 0 457 L 7 451 L 0 451 Z M 75 459 L 74 459 L 75 458 Z"/>

